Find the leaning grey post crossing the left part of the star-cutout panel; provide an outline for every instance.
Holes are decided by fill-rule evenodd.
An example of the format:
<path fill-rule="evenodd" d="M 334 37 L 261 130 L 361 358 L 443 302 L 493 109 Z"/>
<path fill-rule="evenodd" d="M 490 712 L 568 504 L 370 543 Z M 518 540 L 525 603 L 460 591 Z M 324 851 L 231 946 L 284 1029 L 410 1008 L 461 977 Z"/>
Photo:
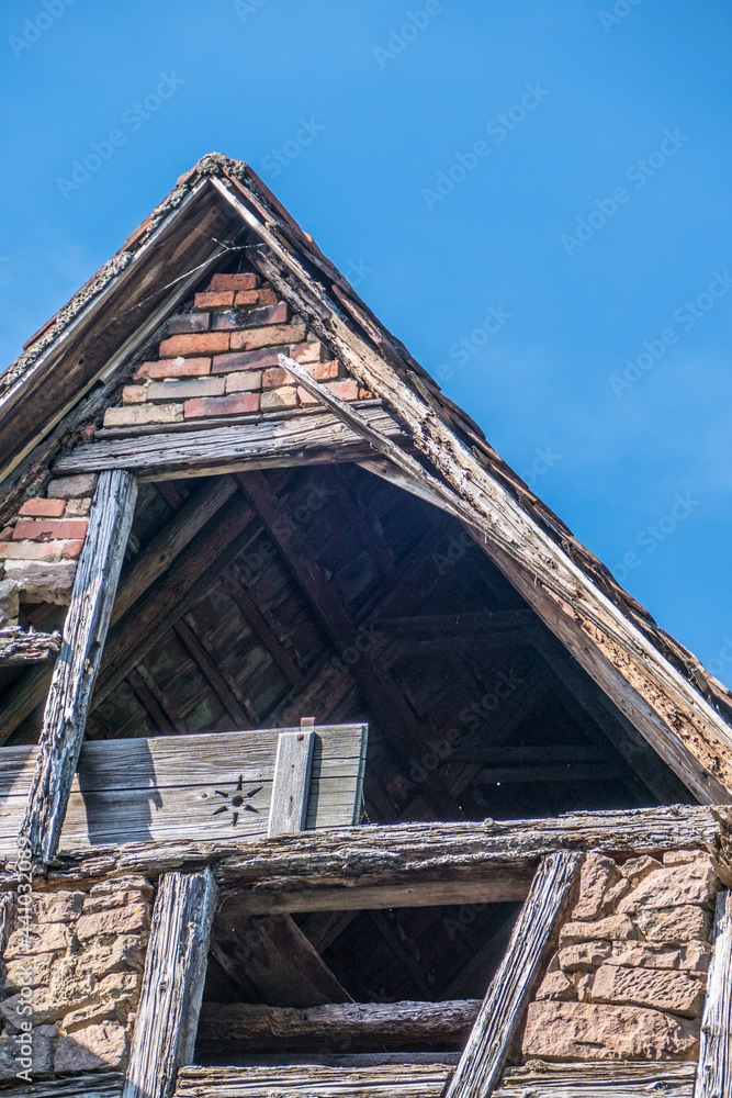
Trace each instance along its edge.
<path fill-rule="evenodd" d="M 21 834 L 34 858 L 56 853 L 102 656 L 137 488 L 124 470 L 100 474 L 54 666 Z"/>

